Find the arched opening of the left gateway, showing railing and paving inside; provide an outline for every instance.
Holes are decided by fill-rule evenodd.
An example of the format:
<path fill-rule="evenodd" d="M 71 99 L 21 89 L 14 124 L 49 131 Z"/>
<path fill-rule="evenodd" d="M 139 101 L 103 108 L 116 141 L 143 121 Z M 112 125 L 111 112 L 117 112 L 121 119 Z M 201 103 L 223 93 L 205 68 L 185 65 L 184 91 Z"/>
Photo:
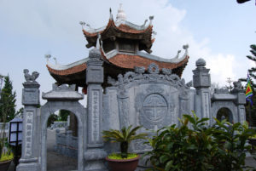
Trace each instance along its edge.
<path fill-rule="evenodd" d="M 47 171 L 78 170 L 78 124 L 71 111 L 49 115 L 46 146 Z"/>

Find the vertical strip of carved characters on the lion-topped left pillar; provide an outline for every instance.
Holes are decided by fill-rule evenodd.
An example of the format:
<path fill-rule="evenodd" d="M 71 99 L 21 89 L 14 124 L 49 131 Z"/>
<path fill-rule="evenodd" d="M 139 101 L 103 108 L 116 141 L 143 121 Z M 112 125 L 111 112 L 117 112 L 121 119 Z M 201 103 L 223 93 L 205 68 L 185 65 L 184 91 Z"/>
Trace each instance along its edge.
<path fill-rule="evenodd" d="M 33 112 L 26 112 L 26 144 L 25 144 L 25 156 L 30 157 L 32 155 L 32 128 L 33 128 Z"/>

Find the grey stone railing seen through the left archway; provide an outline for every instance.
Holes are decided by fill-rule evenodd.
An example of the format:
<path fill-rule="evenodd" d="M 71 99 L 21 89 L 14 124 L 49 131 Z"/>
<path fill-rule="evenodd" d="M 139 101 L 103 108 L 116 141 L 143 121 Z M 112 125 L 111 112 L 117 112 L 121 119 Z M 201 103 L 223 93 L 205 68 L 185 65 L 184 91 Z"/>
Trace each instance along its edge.
<path fill-rule="evenodd" d="M 60 130 L 56 129 L 55 136 L 56 152 L 67 157 L 78 157 L 78 137 L 74 137 L 71 130 L 67 130 L 66 133 L 60 133 Z"/>

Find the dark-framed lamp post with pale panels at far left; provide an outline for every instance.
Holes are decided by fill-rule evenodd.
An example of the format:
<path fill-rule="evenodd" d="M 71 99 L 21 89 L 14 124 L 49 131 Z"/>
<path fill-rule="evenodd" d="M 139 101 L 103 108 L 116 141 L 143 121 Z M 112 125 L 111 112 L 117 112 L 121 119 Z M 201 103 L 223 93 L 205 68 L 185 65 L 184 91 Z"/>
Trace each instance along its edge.
<path fill-rule="evenodd" d="M 22 143 L 22 119 L 15 117 L 9 122 L 9 145 L 15 146 L 15 170 L 18 165 L 19 145 Z"/>

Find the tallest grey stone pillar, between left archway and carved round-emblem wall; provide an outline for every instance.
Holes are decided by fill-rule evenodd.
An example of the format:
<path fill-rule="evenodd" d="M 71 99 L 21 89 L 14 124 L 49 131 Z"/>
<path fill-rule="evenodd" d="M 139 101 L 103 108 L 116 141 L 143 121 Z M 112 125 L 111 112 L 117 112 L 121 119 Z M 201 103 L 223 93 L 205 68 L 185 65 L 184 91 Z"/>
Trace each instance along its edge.
<path fill-rule="evenodd" d="M 87 148 L 84 152 L 85 170 L 106 170 L 102 140 L 102 83 L 103 68 L 99 49 L 90 50 L 87 61 Z"/>

